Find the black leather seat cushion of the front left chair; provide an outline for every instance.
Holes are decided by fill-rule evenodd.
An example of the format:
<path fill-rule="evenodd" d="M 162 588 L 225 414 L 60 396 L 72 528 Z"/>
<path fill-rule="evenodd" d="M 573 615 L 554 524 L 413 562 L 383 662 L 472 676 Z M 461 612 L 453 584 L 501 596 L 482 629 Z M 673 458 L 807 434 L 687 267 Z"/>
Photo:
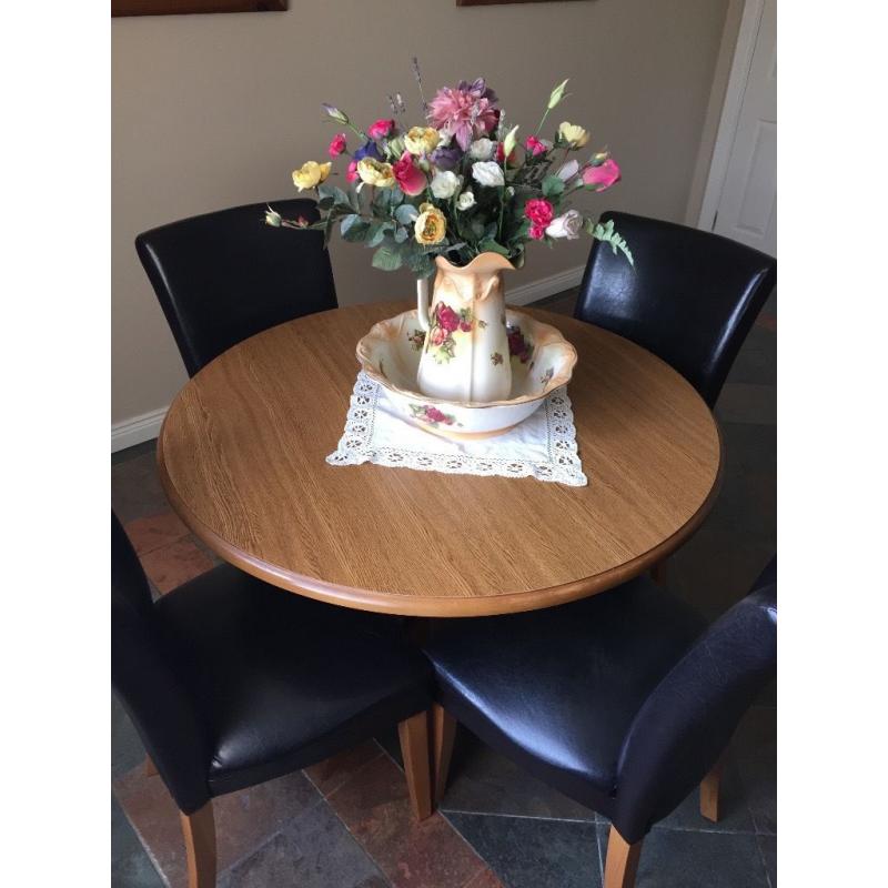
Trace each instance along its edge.
<path fill-rule="evenodd" d="M 212 795 L 325 758 L 427 707 L 397 617 L 326 605 L 229 565 L 157 605 L 212 759 Z"/>

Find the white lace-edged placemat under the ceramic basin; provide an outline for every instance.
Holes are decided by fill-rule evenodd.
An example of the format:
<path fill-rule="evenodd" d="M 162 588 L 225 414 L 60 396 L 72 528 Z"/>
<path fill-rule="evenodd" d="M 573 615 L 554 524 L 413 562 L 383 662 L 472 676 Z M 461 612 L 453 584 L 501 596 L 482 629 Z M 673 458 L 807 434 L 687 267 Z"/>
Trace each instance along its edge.
<path fill-rule="evenodd" d="M 345 433 L 331 465 L 406 466 L 423 472 L 535 477 L 583 487 L 588 484 L 576 451 L 567 387 L 515 428 L 481 441 L 451 441 L 401 418 L 385 389 L 363 372 L 352 392 Z"/>

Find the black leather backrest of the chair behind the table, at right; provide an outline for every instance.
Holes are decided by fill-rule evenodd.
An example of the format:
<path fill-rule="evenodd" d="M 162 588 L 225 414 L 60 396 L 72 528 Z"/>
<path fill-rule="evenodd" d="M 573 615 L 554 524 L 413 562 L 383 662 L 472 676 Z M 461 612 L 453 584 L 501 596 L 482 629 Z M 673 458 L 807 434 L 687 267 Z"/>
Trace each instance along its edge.
<path fill-rule="evenodd" d="M 736 241 L 673 222 L 608 212 L 635 268 L 596 241 L 575 316 L 662 357 L 715 404 L 765 300 L 777 262 Z"/>

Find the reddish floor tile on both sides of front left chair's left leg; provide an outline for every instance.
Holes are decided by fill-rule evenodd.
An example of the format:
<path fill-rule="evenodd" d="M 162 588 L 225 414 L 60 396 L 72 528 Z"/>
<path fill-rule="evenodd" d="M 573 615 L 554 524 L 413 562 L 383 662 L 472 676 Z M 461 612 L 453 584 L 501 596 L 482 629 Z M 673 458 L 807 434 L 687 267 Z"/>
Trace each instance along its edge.
<path fill-rule="evenodd" d="M 148 777 L 140 764 L 115 780 L 113 788 L 135 834 L 170 888 L 186 888 L 179 809 L 163 780 Z M 214 799 L 220 876 L 320 801 L 321 796 L 300 771 Z"/>

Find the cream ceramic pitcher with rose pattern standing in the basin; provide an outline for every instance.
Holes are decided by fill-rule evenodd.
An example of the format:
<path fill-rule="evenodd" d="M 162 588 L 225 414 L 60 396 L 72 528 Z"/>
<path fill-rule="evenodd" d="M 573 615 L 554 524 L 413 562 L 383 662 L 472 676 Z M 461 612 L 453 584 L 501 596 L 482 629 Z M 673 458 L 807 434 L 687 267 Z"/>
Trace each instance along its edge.
<path fill-rule="evenodd" d="M 425 331 L 416 383 L 430 397 L 484 403 L 512 390 L 503 272 L 515 266 L 497 253 L 481 253 L 464 268 L 435 260 L 432 305 L 428 279 L 416 282 L 417 313 Z"/>

